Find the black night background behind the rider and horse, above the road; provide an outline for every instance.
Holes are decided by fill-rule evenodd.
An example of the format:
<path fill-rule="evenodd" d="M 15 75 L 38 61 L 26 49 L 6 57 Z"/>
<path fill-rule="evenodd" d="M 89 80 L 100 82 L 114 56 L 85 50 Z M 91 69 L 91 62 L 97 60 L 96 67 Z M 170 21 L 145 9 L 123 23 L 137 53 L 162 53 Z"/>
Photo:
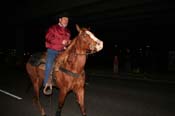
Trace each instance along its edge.
<path fill-rule="evenodd" d="M 70 14 L 72 38 L 75 24 L 90 27 L 104 49 L 88 58 L 88 66 L 113 67 L 119 56 L 125 71 L 130 50 L 131 67 L 142 72 L 174 72 L 175 2 L 166 0 L 16 0 L 6 1 L 2 13 L 1 51 L 15 49 L 16 60 L 26 53 L 45 51 L 44 35 L 56 16 Z M 11 52 L 10 52 L 11 53 Z M 95 64 L 94 64 L 95 63 Z M 171 66 L 170 66 L 171 65 Z M 132 69 L 133 70 L 133 69 Z"/>

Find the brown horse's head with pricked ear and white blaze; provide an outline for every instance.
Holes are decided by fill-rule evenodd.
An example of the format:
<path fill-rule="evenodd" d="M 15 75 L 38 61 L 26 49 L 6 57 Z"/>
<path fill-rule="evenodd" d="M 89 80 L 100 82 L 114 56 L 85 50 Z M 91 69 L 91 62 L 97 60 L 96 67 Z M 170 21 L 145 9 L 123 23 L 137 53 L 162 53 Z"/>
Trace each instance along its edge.
<path fill-rule="evenodd" d="M 76 25 L 76 29 L 79 32 L 78 36 L 81 42 L 81 46 L 90 51 L 91 53 L 98 52 L 103 49 L 103 41 L 99 40 L 95 35 L 87 28 L 80 28 Z"/>

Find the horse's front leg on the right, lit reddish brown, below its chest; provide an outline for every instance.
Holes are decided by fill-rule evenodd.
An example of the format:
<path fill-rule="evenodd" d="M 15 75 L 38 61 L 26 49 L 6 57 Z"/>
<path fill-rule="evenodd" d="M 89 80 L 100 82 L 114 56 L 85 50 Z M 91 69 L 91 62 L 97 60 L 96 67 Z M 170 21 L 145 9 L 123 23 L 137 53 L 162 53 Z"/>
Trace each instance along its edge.
<path fill-rule="evenodd" d="M 75 90 L 75 94 L 77 96 L 78 103 L 80 105 L 80 110 L 83 116 L 86 116 L 86 110 L 84 105 L 84 87 Z"/>

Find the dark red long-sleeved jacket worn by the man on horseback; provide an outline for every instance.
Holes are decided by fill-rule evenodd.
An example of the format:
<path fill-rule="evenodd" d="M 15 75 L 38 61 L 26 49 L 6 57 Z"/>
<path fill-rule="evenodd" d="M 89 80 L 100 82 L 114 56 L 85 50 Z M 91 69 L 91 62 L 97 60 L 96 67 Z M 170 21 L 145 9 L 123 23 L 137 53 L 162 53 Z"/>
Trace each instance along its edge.
<path fill-rule="evenodd" d="M 61 27 L 56 24 L 48 29 L 45 38 L 46 48 L 53 50 L 63 50 L 65 45 L 62 44 L 62 41 L 70 40 L 70 31 L 67 28 Z"/>

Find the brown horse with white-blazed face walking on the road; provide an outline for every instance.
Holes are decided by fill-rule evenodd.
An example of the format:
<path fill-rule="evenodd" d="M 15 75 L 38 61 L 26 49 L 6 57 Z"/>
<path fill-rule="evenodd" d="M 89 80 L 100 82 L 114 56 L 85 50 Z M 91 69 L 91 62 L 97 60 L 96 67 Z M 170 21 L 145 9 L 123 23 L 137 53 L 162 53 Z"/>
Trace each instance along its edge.
<path fill-rule="evenodd" d="M 76 29 L 79 32 L 78 35 L 72 40 L 68 48 L 56 57 L 50 77 L 55 82 L 53 86 L 59 88 L 56 116 L 61 116 L 65 97 L 70 91 L 75 93 L 81 113 L 86 116 L 84 105 L 86 56 L 103 48 L 103 42 L 97 39 L 87 28 L 80 28 L 76 25 Z M 42 116 L 46 116 L 46 114 L 40 103 L 39 91 L 44 80 L 46 55 L 46 53 L 34 54 L 26 64 L 26 70 L 34 87 L 35 103 L 38 105 Z"/>

